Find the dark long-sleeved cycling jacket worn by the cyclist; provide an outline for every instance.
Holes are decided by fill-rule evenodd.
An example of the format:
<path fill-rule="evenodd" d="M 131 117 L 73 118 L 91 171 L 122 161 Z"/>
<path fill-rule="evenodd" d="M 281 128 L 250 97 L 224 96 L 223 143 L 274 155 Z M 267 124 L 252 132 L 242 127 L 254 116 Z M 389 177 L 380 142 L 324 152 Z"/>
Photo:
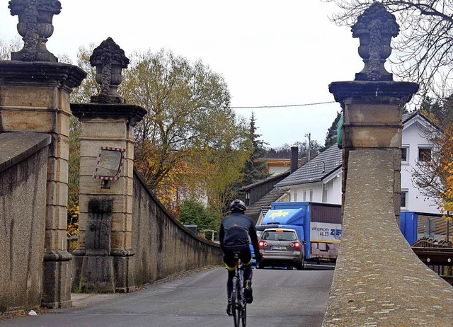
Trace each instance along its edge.
<path fill-rule="evenodd" d="M 248 239 L 257 253 L 258 237 L 256 236 L 256 227 L 253 220 L 241 212 L 232 212 L 226 216 L 220 224 L 219 239 L 220 247 L 223 251 L 228 248 L 248 247 Z"/>

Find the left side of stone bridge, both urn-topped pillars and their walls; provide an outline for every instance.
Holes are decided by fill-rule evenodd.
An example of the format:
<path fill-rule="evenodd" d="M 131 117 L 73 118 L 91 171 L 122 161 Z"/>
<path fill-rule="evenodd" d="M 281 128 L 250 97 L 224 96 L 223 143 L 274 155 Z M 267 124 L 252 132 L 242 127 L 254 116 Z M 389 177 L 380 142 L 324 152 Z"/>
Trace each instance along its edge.
<path fill-rule="evenodd" d="M 53 1 L 9 2 L 24 46 L 0 62 L 0 313 L 71 306 L 85 292 L 132 292 L 178 272 L 219 264 L 215 243 L 169 214 L 134 172 L 134 126 L 146 110 L 116 88 L 129 60 L 108 38 L 91 63 L 101 93 L 71 105 L 86 73 L 45 42 Z M 82 124 L 79 247 L 66 248 L 69 118 Z M 96 168 L 96 170 L 95 170 Z M 93 171 L 95 175 L 93 178 Z"/>

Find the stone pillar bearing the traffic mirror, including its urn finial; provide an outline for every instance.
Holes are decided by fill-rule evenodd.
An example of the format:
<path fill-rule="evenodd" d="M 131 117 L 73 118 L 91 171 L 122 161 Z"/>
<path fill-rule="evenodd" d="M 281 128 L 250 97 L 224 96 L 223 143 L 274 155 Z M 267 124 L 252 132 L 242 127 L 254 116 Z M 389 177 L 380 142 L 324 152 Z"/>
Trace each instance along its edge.
<path fill-rule="evenodd" d="M 73 285 L 85 292 L 131 292 L 134 126 L 147 111 L 124 103 L 116 93 L 121 69 L 129 60 L 112 39 L 94 50 L 90 62 L 96 66 L 101 93 L 91 103 L 71 104 L 81 122 L 79 247 L 73 252 Z M 117 177 L 98 175 L 101 147 L 123 150 Z"/>

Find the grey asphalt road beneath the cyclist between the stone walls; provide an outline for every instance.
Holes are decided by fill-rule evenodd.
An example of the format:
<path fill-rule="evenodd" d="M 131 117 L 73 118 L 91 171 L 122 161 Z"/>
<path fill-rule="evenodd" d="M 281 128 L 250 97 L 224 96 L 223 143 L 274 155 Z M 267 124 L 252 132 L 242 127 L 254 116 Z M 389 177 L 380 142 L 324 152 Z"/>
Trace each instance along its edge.
<path fill-rule="evenodd" d="M 247 326 L 321 326 L 333 271 L 253 270 Z M 74 296 L 76 297 L 76 296 Z M 97 294 L 74 308 L 2 319 L 1 326 L 234 326 L 226 315 L 226 270 L 215 268 L 129 294 Z"/>

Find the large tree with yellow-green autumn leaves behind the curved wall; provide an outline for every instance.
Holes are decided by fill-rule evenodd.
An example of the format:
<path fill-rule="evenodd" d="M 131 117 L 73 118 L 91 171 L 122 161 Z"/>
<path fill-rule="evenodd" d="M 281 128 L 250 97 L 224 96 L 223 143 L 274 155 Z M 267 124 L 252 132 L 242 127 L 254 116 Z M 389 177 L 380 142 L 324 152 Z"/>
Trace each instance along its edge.
<path fill-rule="evenodd" d="M 135 129 L 134 157 L 159 200 L 175 214 L 179 197 L 189 193 L 222 207 L 249 151 L 222 76 L 169 51 L 137 52 L 119 91 L 148 110 Z"/>

